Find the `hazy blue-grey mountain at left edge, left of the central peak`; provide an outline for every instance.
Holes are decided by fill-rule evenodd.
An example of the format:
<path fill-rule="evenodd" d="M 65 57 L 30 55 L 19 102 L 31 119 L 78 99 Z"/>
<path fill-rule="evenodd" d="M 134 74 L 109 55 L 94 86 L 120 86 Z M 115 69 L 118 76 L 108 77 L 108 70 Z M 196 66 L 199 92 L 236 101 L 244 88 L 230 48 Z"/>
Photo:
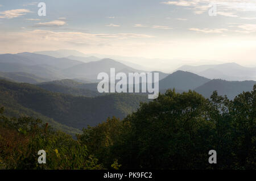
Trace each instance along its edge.
<path fill-rule="evenodd" d="M 0 71 L 24 72 L 50 80 L 68 78 L 62 69 L 79 64 L 82 62 L 35 53 L 0 54 Z"/>

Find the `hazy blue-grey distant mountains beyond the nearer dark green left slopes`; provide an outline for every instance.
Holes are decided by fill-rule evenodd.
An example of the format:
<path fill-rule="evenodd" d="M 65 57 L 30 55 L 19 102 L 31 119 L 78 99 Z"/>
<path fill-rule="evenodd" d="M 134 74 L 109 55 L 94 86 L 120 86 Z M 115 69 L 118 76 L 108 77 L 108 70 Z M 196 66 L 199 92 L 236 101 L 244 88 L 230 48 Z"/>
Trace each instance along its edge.
<path fill-rule="evenodd" d="M 39 52 L 40 53 L 40 52 Z M 41 52 L 42 53 L 42 52 Z M 85 58 L 85 54 L 77 52 L 76 50 L 59 50 L 43 52 L 47 54 L 53 54 L 55 57 L 36 54 L 36 53 L 17 53 L 17 54 L 0 54 L 0 78 L 9 81 L 27 82 L 27 83 L 40 83 L 38 86 L 53 92 L 61 92 L 64 94 L 84 95 L 84 96 L 97 96 L 97 80 L 98 73 L 106 72 L 109 74 L 110 68 L 115 68 L 118 72 L 147 72 L 131 68 L 121 62 L 112 60 L 110 58 L 104 58 L 98 60 L 97 57 L 91 57 L 94 60 L 82 60 Z M 72 55 L 72 54 L 75 54 Z M 61 56 L 67 56 L 69 58 L 63 58 Z M 84 56 L 84 57 L 80 57 Z M 56 58 L 58 57 L 58 58 Z M 80 59 L 73 60 L 73 59 Z M 89 62 L 86 62 L 89 61 Z M 152 73 L 159 73 L 159 90 L 164 92 L 167 89 L 175 88 L 178 92 L 196 90 L 206 97 L 214 90 L 217 90 L 222 95 L 227 95 L 228 98 L 233 99 L 237 92 L 251 90 L 250 81 L 245 83 L 245 86 L 240 87 L 233 86 L 233 89 L 221 90 L 221 86 L 214 86 L 216 82 L 213 79 L 225 79 L 224 85 L 237 85 L 238 82 L 233 80 L 243 81 L 254 80 L 256 70 L 254 68 L 245 68 L 238 64 L 220 64 L 220 65 L 201 65 L 201 66 L 182 66 L 172 74 L 163 73 L 161 71 L 152 71 Z M 185 71 L 183 71 L 185 70 Z M 71 86 L 67 79 L 80 82 L 76 86 Z M 60 80 L 64 82 L 64 85 L 60 84 Z M 228 82 L 228 81 L 232 82 Z M 53 82 L 51 82 L 53 81 Z M 54 82 L 54 81 L 59 81 Z M 221 80 L 215 80 L 221 81 Z M 210 89 L 203 88 L 205 83 L 212 83 L 213 86 Z M 223 89 L 224 86 L 223 85 Z M 206 85 L 207 87 L 208 85 Z M 64 89 L 64 87 L 66 87 Z M 69 87 L 69 89 L 67 88 Z M 72 89 L 71 89 L 72 88 Z"/>

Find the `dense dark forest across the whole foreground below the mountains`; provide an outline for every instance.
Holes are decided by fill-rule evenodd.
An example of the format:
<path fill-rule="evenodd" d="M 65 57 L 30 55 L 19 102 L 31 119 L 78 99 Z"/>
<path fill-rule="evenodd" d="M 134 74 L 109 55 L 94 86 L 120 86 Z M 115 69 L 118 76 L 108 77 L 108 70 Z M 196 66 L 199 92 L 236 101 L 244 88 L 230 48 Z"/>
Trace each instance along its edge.
<path fill-rule="evenodd" d="M 10 94 L 10 93 L 9 93 Z M 30 92 L 31 94 L 31 92 Z M 255 169 L 256 85 L 229 100 L 167 90 L 124 119 L 109 117 L 73 139 L 1 108 L 1 169 Z M 75 112 L 74 112 L 75 113 Z M 38 150 L 47 163 L 38 163 Z M 209 150 L 217 164 L 209 164 Z"/>

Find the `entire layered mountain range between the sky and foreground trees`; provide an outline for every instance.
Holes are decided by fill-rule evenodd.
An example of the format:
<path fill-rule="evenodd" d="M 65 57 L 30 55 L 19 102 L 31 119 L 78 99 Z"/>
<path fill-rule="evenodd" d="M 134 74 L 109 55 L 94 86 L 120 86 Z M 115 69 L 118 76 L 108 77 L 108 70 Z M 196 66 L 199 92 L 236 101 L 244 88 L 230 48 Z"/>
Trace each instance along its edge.
<path fill-rule="evenodd" d="M 0 54 L 0 107 L 5 107 L 7 116 L 38 117 L 56 129 L 75 135 L 82 128 L 102 123 L 108 117 L 122 119 L 136 111 L 141 102 L 150 101 L 147 94 L 101 94 L 97 91 L 98 73 L 109 73 L 110 68 L 115 68 L 115 73 L 126 74 L 148 71 L 110 58 L 85 57 L 73 50 L 50 53 L 52 56 L 28 52 Z M 212 92 L 217 91 L 219 95 L 234 99 L 243 91 L 251 91 L 256 84 L 250 81 L 250 78 L 255 80 L 255 69 L 238 64 L 180 69 L 171 74 L 152 71 L 159 73 L 162 94 L 167 89 L 194 90 L 210 98 Z M 233 79 L 238 81 L 230 81 Z"/>

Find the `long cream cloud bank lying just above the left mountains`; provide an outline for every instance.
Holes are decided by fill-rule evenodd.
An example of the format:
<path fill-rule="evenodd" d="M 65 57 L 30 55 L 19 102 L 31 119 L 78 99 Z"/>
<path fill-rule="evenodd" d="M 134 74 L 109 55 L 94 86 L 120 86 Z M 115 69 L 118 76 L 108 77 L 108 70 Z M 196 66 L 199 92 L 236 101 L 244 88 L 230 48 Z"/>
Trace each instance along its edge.
<path fill-rule="evenodd" d="M 22 32 L 0 33 L 0 49 L 43 49 L 49 47 L 73 47 L 81 48 L 98 47 L 99 44 L 115 44 L 116 46 L 130 43 L 136 39 L 151 39 L 154 36 L 138 33 L 85 33 L 33 30 Z M 14 42 L 15 41 L 15 48 Z"/>

